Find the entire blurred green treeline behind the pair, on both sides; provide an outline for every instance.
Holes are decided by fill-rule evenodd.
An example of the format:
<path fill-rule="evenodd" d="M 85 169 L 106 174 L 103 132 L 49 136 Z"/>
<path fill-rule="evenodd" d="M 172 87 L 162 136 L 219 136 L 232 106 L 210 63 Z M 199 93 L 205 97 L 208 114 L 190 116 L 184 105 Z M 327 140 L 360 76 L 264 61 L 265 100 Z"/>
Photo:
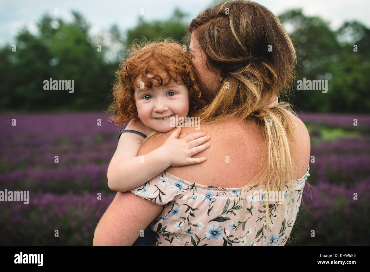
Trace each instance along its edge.
<path fill-rule="evenodd" d="M 214 0 L 213 4 L 221 2 Z M 39 35 L 26 27 L 12 45 L 0 48 L 2 111 L 104 110 L 117 61 L 126 57 L 126 48 L 144 37 L 172 37 L 187 44 L 185 18 L 175 9 L 167 20 L 145 21 L 121 31 L 117 24 L 97 37 L 90 37 L 90 25 L 78 11 L 65 22 L 45 14 L 37 23 Z M 290 37 L 297 49 L 297 80 L 328 80 L 328 91 L 298 91 L 290 100 L 302 111 L 369 113 L 370 53 L 369 29 L 357 21 L 344 22 L 333 31 L 317 16 L 305 16 L 302 9 L 288 10 L 280 19 L 292 26 Z M 357 51 L 354 51 L 354 45 Z M 101 50 L 98 48 L 101 47 Z M 109 56 L 108 56 L 109 55 Z M 74 80 L 74 93 L 47 91 L 43 81 Z"/>

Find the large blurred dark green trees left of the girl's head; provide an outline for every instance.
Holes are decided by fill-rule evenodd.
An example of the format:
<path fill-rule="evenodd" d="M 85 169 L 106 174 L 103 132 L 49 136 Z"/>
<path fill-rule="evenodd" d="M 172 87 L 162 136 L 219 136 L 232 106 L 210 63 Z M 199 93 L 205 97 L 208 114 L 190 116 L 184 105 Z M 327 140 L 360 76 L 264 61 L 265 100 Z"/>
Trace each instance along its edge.
<path fill-rule="evenodd" d="M 6 99 L 3 110 L 104 110 L 115 67 L 88 37 L 90 26 L 73 11 L 73 23 L 48 14 L 37 24 L 39 36 L 26 28 L 16 36 L 16 52 L 1 48 L 0 71 Z M 44 90 L 44 80 L 74 80 L 74 93 Z"/>

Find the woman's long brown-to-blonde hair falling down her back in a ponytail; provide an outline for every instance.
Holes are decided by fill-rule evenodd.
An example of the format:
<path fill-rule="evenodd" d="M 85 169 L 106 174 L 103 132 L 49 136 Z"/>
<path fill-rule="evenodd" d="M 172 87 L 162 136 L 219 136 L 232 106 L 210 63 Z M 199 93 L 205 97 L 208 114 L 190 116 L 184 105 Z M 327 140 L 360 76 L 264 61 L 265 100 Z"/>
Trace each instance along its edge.
<path fill-rule="evenodd" d="M 260 4 L 233 0 L 203 10 L 191 21 L 187 31 L 195 35 L 206 54 L 208 69 L 221 70 L 223 77 L 220 90 L 192 115 L 203 124 L 229 117 L 257 124 L 265 137 L 267 158 L 262 162 L 260 173 L 241 188 L 240 194 L 259 185 L 266 185 L 269 191 L 285 192 L 287 185 L 289 201 L 296 179 L 293 163 L 296 158 L 292 152 L 295 123 L 290 113 L 296 114 L 292 105 L 285 102 L 265 108 L 275 95 L 288 94 L 295 78 L 295 48 L 281 21 Z M 149 136 L 155 134 L 157 132 Z M 277 201 L 265 200 L 266 235 L 263 235 L 268 245 L 270 212 L 276 209 L 283 213 L 286 227 L 286 202 L 281 211 L 276 209 Z"/>

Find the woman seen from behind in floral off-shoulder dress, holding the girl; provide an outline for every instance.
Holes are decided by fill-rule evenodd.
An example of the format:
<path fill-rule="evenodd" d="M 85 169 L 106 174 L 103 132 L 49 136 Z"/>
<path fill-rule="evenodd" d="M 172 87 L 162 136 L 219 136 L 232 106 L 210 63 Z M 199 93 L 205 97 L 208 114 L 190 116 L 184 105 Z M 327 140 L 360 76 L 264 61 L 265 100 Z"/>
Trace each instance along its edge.
<path fill-rule="evenodd" d="M 310 138 L 289 104 L 265 104 L 292 83 L 292 41 L 268 9 L 240 0 L 202 11 L 188 31 L 202 91 L 211 97 L 194 114 L 211 147 L 193 157 L 207 160 L 169 167 L 134 194 L 117 193 L 93 245 L 131 246 L 150 223 L 156 245 L 285 245 L 309 175 Z M 194 132 L 184 127 L 179 138 Z M 171 133 L 149 138 L 138 156 Z M 256 189 L 284 192 L 287 201 L 256 201 Z M 158 190 L 165 192 L 160 201 Z"/>

